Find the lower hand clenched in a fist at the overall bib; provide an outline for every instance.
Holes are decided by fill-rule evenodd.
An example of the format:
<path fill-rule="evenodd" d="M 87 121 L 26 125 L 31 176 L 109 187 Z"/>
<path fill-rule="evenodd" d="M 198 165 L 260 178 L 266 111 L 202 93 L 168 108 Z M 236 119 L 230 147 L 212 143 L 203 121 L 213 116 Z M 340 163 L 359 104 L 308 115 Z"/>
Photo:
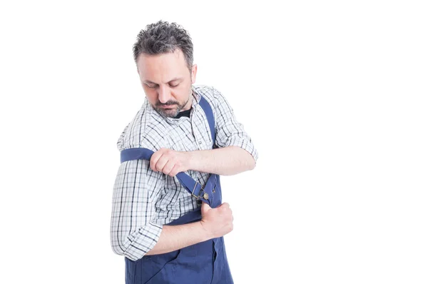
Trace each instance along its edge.
<path fill-rule="evenodd" d="M 210 238 L 220 238 L 233 230 L 233 215 L 229 203 L 211 208 L 203 202 L 200 213 L 202 214 L 200 223 Z"/>

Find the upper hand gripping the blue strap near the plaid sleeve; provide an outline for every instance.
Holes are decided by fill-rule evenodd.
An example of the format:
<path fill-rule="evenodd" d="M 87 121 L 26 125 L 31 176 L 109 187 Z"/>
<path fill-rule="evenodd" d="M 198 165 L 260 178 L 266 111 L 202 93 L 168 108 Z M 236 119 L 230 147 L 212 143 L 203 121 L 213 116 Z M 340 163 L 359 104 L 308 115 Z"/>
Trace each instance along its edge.
<path fill-rule="evenodd" d="M 153 153 L 150 159 L 150 167 L 153 171 L 161 171 L 165 175 L 175 176 L 182 171 L 188 171 L 188 162 L 186 152 L 160 148 Z"/>

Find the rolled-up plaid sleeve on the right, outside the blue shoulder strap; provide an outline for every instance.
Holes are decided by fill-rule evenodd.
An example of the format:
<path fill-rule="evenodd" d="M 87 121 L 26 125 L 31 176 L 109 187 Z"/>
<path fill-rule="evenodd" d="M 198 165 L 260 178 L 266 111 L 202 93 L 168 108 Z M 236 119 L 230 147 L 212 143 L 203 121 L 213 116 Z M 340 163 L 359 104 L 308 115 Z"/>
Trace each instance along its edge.
<path fill-rule="evenodd" d="M 215 106 L 215 144 L 218 147 L 238 146 L 248 151 L 257 162 L 258 151 L 255 149 L 242 123 L 239 123 L 225 96 L 213 88 Z"/>

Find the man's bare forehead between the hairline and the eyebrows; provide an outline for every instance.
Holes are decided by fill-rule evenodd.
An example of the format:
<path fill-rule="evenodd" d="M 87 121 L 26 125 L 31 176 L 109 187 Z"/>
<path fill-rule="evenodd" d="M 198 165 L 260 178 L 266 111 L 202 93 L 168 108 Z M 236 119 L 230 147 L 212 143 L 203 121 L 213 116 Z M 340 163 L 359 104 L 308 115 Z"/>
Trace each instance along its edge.
<path fill-rule="evenodd" d="M 165 54 L 140 54 L 137 59 L 138 73 L 144 80 L 168 81 L 189 72 L 183 51 L 175 49 Z"/>

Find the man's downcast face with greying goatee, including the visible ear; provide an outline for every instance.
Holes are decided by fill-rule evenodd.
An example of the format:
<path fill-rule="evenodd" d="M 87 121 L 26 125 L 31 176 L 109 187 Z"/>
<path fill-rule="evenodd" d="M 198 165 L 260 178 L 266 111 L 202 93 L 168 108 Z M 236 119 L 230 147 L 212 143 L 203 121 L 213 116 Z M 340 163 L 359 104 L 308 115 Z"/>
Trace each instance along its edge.
<path fill-rule="evenodd" d="M 183 51 L 157 55 L 140 54 L 138 74 L 148 102 L 162 116 L 175 117 L 192 106 L 192 84 L 197 66 L 190 73 Z"/>

